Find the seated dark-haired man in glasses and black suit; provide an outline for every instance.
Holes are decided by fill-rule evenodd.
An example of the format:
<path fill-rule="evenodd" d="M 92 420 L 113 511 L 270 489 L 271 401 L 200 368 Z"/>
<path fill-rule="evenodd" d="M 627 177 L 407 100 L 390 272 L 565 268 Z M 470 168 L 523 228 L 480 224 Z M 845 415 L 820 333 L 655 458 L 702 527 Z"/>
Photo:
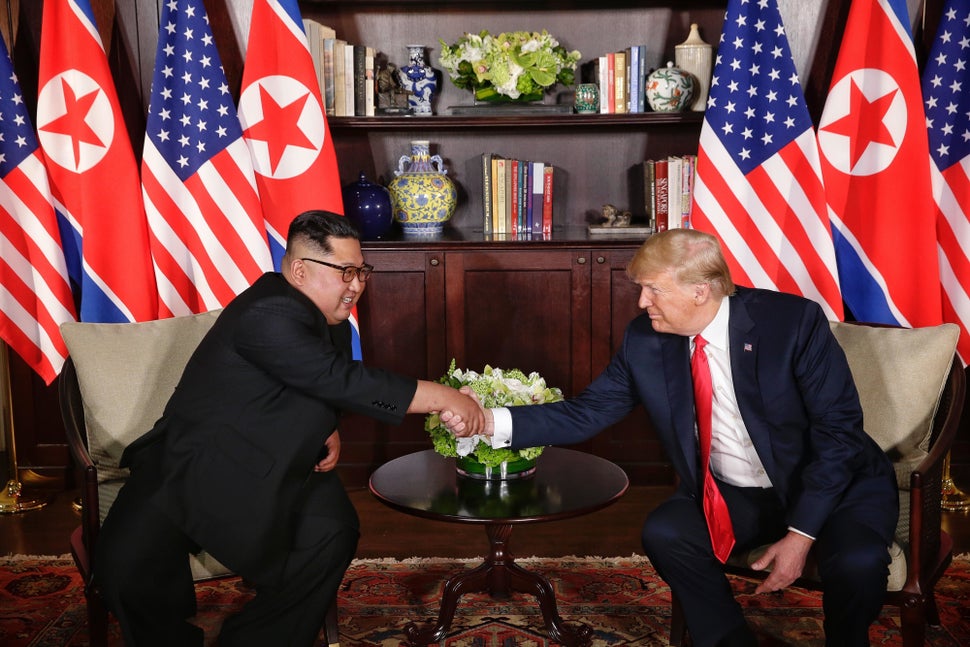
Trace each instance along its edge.
<path fill-rule="evenodd" d="M 336 473 L 342 411 L 389 423 L 474 400 L 351 358 L 348 318 L 373 268 L 336 214 L 297 216 L 282 273 L 219 316 L 155 426 L 122 457 L 131 477 L 98 541 L 95 581 L 125 643 L 202 645 L 188 555 L 255 585 L 222 646 L 312 645 L 354 556 L 359 523 Z M 463 416 L 464 417 L 464 416 Z"/>

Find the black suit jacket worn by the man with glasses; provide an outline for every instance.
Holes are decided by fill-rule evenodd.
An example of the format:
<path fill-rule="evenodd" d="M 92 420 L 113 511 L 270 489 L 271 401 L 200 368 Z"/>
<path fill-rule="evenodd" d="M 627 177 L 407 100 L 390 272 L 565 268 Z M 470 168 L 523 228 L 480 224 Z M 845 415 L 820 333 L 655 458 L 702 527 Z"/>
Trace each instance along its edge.
<path fill-rule="evenodd" d="M 356 527 L 339 478 L 313 472 L 341 411 L 396 424 L 414 397 L 414 379 L 352 361 L 349 326 L 327 325 L 282 275 L 263 275 L 225 308 L 162 417 L 123 456 L 133 473 L 160 474 L 153 502 L 253 582 L 278 577 L 309 502 L 320 508 L 309 513 Z"/>

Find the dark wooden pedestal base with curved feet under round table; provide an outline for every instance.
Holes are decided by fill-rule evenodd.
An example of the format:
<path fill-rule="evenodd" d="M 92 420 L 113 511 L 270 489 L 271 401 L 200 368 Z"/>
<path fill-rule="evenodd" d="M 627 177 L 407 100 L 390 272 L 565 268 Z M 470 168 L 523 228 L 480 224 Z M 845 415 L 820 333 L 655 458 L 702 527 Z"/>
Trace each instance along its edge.
<path fill-rule="evenodd" d="M 546 624 L 549 637 L 566 647 L 587 647 L 593 641 L 593 630 L 587 625 L 570 628 L 559 617 L 556 607 L 556 594 L 549 580 L 538 573 L 527 571 L 515 563 L 508 551 L 512 524 L 486 524 L 489 555 L 476 568 L 452 576 L 446 583 L 441 596 L 441 609 L 438 622 L 432 627 L 418 627 L 411 622 L 404 628 L 408 644 L 430 645 L 440 642 L 448 633 L 451 621 L 455 618 L 458 598 L 465 593 L 485 592 L 493 598 L 506 598 L 512 591 L 531 593 L 539 600 L 542 619 Z"/>

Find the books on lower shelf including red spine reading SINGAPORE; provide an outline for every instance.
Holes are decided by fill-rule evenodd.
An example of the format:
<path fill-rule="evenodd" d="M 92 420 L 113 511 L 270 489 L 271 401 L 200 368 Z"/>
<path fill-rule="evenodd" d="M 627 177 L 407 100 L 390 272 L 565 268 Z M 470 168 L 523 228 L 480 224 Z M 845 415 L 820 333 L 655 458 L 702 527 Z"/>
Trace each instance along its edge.
<path fill-rule="evenodd" d="M 643 162 L 643 206 L 654 231 L 690 227 L 696 155 Z"/>

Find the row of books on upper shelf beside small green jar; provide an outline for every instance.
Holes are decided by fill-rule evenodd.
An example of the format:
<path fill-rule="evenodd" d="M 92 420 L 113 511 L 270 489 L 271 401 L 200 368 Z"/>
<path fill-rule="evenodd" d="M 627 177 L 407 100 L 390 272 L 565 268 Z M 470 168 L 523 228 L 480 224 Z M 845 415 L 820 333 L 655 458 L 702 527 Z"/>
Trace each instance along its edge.
<path fill-rule="evenodd" d="M 631 45 L 618 52 L 603 54 L 583 66 L 582 78 L 600 90 L 600 113 L 646 112 L 647 78 L 645 45 Z"/>

